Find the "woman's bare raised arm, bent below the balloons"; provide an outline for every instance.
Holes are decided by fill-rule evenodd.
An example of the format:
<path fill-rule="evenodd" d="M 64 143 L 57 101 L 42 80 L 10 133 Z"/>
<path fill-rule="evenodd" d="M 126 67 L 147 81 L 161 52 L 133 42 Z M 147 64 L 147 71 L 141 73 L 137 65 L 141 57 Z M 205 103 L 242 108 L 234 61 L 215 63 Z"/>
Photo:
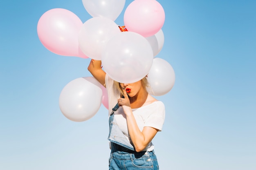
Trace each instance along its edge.
<path fill-rule="evenodd" d="M 106 73 L 101 68 L 101 61 L 100 60 L 91 60 L 88 71 L 92 74 L 92 76 L 98 80 L 100 84 L 102 84 L 104 87 L 106 87 L 105 84 L 105 77 Z"/>

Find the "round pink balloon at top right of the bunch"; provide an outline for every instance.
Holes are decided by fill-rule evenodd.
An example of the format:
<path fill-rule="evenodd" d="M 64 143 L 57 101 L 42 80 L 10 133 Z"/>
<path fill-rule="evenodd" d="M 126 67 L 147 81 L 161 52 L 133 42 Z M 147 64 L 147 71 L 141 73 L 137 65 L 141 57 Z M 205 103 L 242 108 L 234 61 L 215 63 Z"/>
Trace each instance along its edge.
<path fill-rule="evenodd" d="M 124 13 L 124 25 L 128 31 L 144 37 L 155 35 L 164 25 L 164 9 L 156 0 L 134 0 Z"/>

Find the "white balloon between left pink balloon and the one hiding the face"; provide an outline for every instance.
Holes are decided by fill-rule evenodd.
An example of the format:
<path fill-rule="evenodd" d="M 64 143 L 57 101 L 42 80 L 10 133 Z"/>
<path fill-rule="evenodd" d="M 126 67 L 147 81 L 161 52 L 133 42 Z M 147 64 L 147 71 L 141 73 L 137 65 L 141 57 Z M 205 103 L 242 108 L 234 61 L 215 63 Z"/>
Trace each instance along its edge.
<path fill-rule="evenodd" d="M 104 44 L 117 33 L 120 29 L 114 21 L 104 17 L 90 18 L 79 31 L 79 47 L 88 57 L 101 60 Z"/>

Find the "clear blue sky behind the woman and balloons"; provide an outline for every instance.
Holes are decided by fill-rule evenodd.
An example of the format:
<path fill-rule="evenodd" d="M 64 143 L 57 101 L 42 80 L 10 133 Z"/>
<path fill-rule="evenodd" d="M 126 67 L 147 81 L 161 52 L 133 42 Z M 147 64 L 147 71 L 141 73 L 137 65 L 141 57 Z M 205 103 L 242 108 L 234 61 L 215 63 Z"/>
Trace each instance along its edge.
<path fill-rule="evenodd" d="M 118 25 L 124 25 L 123 17 Z M 165 11 L 157 57 L 175 71 L 153 139 L 161 170 L 256 169 L 256 1 L 158 0 Z M 0 170 L 108 169 L 108 110 L 83 122 L 58 106 L 64 86 L 91 76 L 90 59 L 41 44 L 39 18 L 63 8 L 82 22 L 82 0 L 0 1 Z"/>

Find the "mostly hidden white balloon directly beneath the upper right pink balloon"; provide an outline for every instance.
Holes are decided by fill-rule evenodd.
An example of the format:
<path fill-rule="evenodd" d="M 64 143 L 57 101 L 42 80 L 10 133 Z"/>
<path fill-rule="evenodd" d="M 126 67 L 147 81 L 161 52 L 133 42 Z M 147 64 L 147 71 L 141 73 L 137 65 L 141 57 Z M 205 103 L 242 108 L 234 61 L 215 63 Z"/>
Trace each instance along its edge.
<path fill-rule="evenodd" d="M 164 33 L 162 29 L 160 29 L 160 31 L 158 31 L 155 35 L 146 37 L 146 39 L 150 43 L 155 57 L 164 46 Z"/>

